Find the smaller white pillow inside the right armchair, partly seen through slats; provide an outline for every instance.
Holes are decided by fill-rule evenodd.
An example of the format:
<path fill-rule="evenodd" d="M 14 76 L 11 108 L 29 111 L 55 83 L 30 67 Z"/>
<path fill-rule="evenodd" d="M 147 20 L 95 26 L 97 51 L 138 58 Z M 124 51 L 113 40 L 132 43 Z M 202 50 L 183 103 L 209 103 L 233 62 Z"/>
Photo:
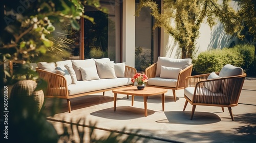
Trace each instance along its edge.
<path fill-rule="evenodd" d="M 207 80 L 210 79 L 218 79 L 221 78 L 220 76 L 218 76 L 215 72 L 210 73 L 210 75 L 208 76 Z M 211 92 L 218 92 L 218 90 L 221 88 L 221 81 L 211 81 L 211 82 L 205 82 L 204 85 L 205 88 L 209 89 Z"/>

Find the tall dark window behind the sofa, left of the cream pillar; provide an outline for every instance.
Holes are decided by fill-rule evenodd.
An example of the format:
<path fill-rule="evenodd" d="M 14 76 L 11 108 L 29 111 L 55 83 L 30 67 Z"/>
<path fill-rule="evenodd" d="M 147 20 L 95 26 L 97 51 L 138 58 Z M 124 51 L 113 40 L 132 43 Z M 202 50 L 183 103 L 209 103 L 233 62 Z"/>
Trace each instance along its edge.
<path fill-rule="evenodd" d="M 85 15 L 94 18 L 94 22 L 84 19 L 83 56 L 84 59 L 105 58 L 116 60 L 116 46 L 120 48 L 116 30 L 120 29 L 120 8 L 118 1 L 101 0 L 100 5 L 108 8 L 109 13 L 86 7 Z M 81 46 L 82 47 L 82 46 Z"/>

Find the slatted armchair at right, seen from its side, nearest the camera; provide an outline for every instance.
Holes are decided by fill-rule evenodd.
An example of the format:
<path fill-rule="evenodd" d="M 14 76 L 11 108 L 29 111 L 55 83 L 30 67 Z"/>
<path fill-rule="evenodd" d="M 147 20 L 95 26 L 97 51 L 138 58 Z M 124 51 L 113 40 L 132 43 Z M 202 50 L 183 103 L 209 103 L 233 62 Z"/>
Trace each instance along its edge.
<path fill-rule="evenodd" d="M 220 73 L 216 74 L 220 76 Z M 197 105 L 219 106 L 223 112 L 224 107 L 227 107 L 231 119 L 234 121 L 231 107 L 238 105 L 246 74 L 214 79 L 209 79 L 209 75 L 203 74 L 186 78 L 184 88 L 186 101 L 183 111 L 188 102 L 193 105 L 190 117 L 190 120 L 193 120 Z"/>

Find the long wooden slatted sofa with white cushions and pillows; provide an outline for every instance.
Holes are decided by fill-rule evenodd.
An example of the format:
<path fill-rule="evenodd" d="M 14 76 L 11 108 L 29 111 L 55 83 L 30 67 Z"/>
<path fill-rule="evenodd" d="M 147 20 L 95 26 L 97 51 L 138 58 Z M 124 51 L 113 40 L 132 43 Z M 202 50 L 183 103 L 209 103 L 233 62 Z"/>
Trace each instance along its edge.
<path fill-rule="evenodd" d="M 71 112 L 70 99 L 117 88 L 132 86 L 134 67 L 114 63 L 109 58 L 66 60 L 56 63 L 39 62 L 36 67 L 48 86 L 45 98 L 66 99 Z"/>

